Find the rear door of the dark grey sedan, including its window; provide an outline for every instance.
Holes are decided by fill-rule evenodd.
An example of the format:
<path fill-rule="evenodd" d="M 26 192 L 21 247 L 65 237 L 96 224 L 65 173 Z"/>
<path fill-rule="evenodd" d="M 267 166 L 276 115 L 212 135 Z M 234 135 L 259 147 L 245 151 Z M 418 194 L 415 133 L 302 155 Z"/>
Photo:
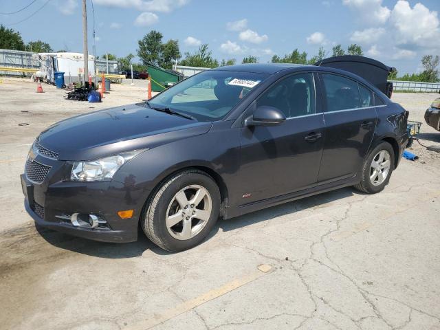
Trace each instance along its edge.
<path fill-rule="evenodd" d="M 325 141 L 318 183 L 352 177 L 369 150 L 377 112 L 373 93 L 338 74 L 320 74 L 324 103 Z"/>

